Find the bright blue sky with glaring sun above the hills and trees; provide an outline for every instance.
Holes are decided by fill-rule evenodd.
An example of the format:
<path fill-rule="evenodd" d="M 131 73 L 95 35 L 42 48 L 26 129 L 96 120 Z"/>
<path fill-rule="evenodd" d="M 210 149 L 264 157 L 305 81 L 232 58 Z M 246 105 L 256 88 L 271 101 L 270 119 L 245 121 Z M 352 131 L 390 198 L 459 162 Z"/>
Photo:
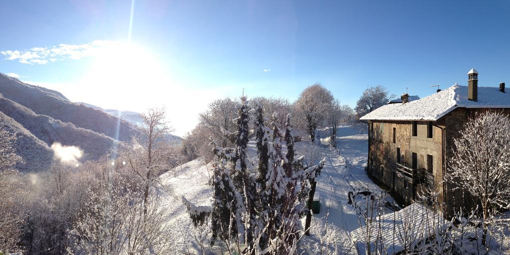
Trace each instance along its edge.
<path fill-rule="evenodd" d="M 104 108 L 164 105 L 177 134 L 242 88 L 294 100 L 319 82 L 354 106 L 368 86 L 423 97 L 432 84 L 465 85 L 473 67 L 480 85 L 510 82 L 508 1 L 20 0 L 2 9 L 0 52 L 11 54 L 0 54 L 0 72 Z M 107 57 L 73 48 L 105 44 L 115 48 Z M 34 47 L 78 55 L 21 63 Z"/>

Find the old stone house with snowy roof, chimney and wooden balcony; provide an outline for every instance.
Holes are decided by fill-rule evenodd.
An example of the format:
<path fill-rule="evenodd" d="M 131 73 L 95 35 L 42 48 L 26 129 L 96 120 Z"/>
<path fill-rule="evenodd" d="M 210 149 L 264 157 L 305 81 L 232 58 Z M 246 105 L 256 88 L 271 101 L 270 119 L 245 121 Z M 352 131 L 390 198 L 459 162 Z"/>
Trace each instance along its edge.
<path fill-rule="evenodd" d="M 453 139 L 464 123 L 479 111 L 510 114 L 505 84 L 478 87 L 478 72 L 468 73 L 468 86 L 453 85 L 427 97 L 388 104 L 363 116 L 369 124 L 369 174 L 395 190 L 407 203 L 418 200 L 424 188 L 439 192 L 447 208 L 468 206 L 462 193 L 443 185 Z M 510 132 L 510 131 L 509 131 Z M 465 196 L 464 196 L 465 197 Z"/>

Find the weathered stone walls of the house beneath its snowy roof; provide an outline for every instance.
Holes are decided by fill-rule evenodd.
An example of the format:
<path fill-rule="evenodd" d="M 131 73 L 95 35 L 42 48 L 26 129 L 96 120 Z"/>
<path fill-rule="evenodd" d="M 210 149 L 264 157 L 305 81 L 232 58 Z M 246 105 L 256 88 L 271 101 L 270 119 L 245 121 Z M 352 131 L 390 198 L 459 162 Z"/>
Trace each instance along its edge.
<path fill-rule="evenodd" d="M 475 113 L 484 111 L 503 111 L 510 116 L 510 109 L 457 108 L 438 121 L 432 122 L 432 138 L 427 137 L 428 121 L 417 121 L 417 136 L 413 136 L 413 121 L 369 121 L 367 170 L 410 203 L 413 201 L 413 193 L 419 194 L 421 187 L 418 185 L 413 190 L 410 183 L 406 183 L 396 174 L 394 176 L 397 148 L 400 148 L 401 162 L 406 162 L 410 166 L 412 152 L 415 152 L 418 160 L 417 168 L 427 169 L 427 155 L 430 155 L 433 160 L 434 188 L 439 192 L 438 202 L 445 202 L 447 213 L 451 214 L 461 207 L 468 209 L 475 207 L 476 200 L 462 189 L 453 190 L 454 187 L 451 184 L 443 188 L 443 171 L 445 173 L 448 171 L 448 159 L 453 153 L 453 140 L 460 137 L 460 131 L 466 121 L 474 117 Z M 394 129 L 395 142 L 393 142 Z M 444 165 L 443 162 L 445 162 Z"/>

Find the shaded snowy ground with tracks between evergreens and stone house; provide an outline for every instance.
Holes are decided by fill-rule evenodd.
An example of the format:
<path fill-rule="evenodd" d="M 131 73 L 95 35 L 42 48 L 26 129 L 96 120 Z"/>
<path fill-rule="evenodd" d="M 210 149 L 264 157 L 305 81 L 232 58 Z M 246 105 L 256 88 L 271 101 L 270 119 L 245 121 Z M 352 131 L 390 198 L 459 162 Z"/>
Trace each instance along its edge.
<path fill-rule="evenodd" d="M 329 134 L 320 134 L 324 137 Z M 327 139 L 321 139 L 326 142 Z M 360 227 L 354 208 L 348 203 L 349 191 L 370 191 L 380 194 L 379 186 L 374 184 L 365 172 L 368 157 L 368 135 L 360 134 L 351 126 L 341 126 L 337 131 L 337 147 L 322 145 L 321 152 L 326 158 L 324 168 L 317 181 L 317 192 L 321 197 L 321 212 L 314 215 L 308 240 L 309 253 L 320 249 L 319 237 L 336 254 L 355 253 L 350 232 Z M 391 197 L 388 199 L 392 202 Z M 329 213 L 326 219 L 326 213 Z"/>

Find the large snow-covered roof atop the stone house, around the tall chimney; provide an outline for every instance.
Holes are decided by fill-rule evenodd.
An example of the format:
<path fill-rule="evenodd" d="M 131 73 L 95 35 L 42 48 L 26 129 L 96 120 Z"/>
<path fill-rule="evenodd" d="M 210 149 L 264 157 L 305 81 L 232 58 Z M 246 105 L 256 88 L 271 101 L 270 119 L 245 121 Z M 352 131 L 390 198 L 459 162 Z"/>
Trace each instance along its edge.
<path fill-rule="evenodd" d="M 453 85 L 435 94 L 406 104 L 389 104 L 361 117 L 361 120 L 436 121 L 458 107 L 510 108 L 510 93 L 496 87 L 478 87 L 478 100 L 468 99 L 468 87 Z"/>

